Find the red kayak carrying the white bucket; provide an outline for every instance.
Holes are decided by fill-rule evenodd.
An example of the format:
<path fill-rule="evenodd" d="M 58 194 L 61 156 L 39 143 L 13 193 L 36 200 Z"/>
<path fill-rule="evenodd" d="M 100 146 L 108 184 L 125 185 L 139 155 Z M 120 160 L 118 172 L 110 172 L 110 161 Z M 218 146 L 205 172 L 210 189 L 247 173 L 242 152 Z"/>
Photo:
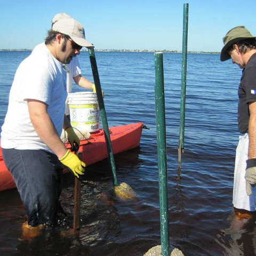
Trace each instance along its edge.
<path fill-rule="evenodd" d="M 115 126 L 109 129 L 113 153 L 138 147 L 142 132 L 142 123 Z M 70 144 L 66 144 L 70 148 Z M 83 162 L 90 165 L 108 157 L 107 145 L 103 130 L 91 134 L 87 140 L 81 140 L 79 151 L 83 152 Z M 0 147 L 0 191 L 15 188 L 11 173 L 4 164 L 2 149 Z"/>

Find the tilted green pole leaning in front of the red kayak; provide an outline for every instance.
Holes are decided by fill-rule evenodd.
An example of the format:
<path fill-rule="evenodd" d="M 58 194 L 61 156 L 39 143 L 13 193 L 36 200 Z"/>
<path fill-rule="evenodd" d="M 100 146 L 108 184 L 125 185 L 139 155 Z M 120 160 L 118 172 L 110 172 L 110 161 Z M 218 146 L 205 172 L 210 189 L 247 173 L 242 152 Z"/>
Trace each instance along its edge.
<path fill-rule="evenodd" d="M 116 165 L 115 165 L 114 154 L 113 154 L 113 149 L 112 149 L 110 135 L 109 135 L 109 127 L 108 127 L 105 105 L 104 105 L 103 96 L 101 92 L 100 77 L 99 77 L 97 62 L 96 62 L 95 53 L 93 49 L 89 49 L 89 55 L 90 55 L 90 62 L 92 67 L 92 75 L 93 75 L 94 84 L 96 87 L 96 93 L 97 93 L 97 98 L 98 98 L 98 103 L 100 108 L 100 117 L 101 117 L 102 127 L 103 127 L 105 140 L 107 144 L 109 162 L 111 164 L 111 169 L 113 172 L 114 185 L 117 186 L 118 180 L 116 175 Z"/>

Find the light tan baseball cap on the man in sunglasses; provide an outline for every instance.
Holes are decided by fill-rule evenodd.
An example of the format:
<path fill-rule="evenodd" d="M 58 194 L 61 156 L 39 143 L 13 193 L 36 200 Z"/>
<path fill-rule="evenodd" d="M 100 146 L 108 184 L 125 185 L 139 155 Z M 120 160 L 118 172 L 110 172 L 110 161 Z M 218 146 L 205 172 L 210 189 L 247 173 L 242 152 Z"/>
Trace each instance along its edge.
<path fill-rule="evenodd" d="M 60 19 L 52 25 L 52 30 L 68 35 L 80 46 L 93 47 L 93 45 L 85 39 L 84 27 L 75 19 Z"/>

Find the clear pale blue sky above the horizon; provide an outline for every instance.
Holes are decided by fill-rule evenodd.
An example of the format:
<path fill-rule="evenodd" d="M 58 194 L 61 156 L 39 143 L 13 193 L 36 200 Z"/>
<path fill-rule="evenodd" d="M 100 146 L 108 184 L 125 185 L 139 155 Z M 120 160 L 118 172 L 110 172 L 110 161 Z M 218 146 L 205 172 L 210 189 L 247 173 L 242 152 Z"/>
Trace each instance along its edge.
<path fill-rule="evenodd" d="M 220 51 L 230 28 L 256 35 L 256 0 L 0 0 L 0 49 L 33 49 L 51 19 L 81 22 L 95 49 L 181 50 L 183 4 L 189 4 L 188 51 Z"/>

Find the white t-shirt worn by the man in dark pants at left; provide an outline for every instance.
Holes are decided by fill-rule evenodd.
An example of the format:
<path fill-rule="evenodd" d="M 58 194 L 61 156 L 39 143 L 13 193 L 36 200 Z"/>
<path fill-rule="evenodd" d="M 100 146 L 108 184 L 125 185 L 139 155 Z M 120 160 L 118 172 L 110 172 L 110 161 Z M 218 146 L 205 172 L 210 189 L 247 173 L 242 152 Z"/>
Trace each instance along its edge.
<path fill-rule="evenodd" d="M 43 101 L 48 105 L 47 114 L 61 135 L 67 98 L 66 79 L 63 64 L 53 57 L 46 46 L 32 52 L 20 63 L 2 126 L 2 148 L 44 149 L 51 152 L 30 121 L 26 99 Z"/>

